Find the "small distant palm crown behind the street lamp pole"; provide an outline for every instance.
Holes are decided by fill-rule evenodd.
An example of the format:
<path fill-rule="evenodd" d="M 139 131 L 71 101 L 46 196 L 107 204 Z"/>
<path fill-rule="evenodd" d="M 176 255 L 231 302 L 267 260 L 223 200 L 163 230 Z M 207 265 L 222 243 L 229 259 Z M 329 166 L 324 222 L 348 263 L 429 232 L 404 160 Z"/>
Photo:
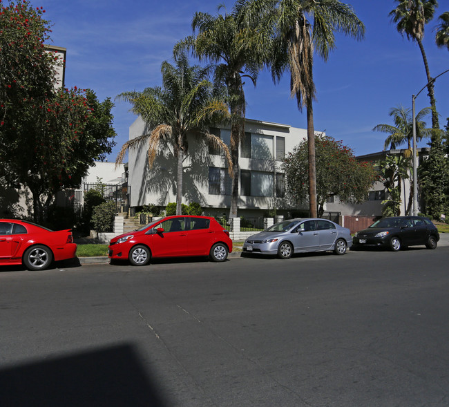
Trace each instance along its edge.
<path fill-rule="evenodd" d="M 412 148 L 413 140 L 413 118 L 411 115 L 412 109 L 404 108 L 403 106 L 397 106 L 390 109 L 389 115 L 393 117 L 394 126 L 390 124 L 377 124 L 374 126 L 373 131 L 381 131 L 388 133 L 388 138 L 385 139 L 383 149 L 386 150 L 390 146 L 390 149 L 396 149 L 397 146 L 407 143 L 408 150 Z M 426 122 L 423 122 L 423 117 L 426 117 L 431 108 L 423 108 L 416 116 L 416 134 L 417 141 L 423 138 L 428 138 L 432 134 L 432 129 L 426 129 Z"/>

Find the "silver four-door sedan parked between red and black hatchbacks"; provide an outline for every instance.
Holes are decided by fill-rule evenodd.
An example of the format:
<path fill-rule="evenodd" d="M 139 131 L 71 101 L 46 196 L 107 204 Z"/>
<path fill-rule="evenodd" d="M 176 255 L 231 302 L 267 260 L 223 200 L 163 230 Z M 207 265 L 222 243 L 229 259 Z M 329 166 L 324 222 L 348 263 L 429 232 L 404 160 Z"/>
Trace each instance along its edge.
<path fill-rule="evenodd" d="M 352 246 L 350 229 L 320 218 L 283 220 L 249 236 L 243 252 L 290 258 L 294 253 L 325 252 L 345 254 Z"/>

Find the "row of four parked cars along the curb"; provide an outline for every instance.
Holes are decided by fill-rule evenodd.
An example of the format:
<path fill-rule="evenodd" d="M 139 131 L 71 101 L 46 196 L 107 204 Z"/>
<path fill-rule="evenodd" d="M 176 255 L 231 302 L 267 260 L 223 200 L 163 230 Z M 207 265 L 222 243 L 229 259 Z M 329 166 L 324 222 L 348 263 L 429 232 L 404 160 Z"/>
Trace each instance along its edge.
<path fill-rule="evenodd" d="M 437 227 L 422 216 L 383 218 L 355 234 L 330 220 L 301 218 L 283 222 L 249 236 L 244 254 L 287 259 L 296 253 L 333 251 L 342 255 L 350 247 L 388 247 L 394 252 L 412 245 L 436 249 Z M 46 269 L 52 261 L 75 257 L 77 245 L 70 229 L 51 231 L 23 220 L 0 219 L 0 265 L 26 265 Z M 151 258 L 209 256 L 226 261 L 232 252 L 229 231 L 209 216 L 168 216 L 116 236 L 108 247 L 111 261 L 146 265 Z"/>

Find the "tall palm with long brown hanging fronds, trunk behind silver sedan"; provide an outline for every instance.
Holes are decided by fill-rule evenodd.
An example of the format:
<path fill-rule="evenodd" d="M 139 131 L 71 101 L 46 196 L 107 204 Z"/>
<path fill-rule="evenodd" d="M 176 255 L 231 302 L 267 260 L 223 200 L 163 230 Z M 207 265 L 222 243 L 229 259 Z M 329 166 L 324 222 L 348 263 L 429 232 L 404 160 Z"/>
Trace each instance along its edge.
<path fill-rule="evenodd" d="M 247 10 L 272 16 L 276 33 L 270 61 L 273 79 L 278 81 L 283 72 L 289 70 L 291 95 L 296 97 L 300 111 L 306 108 L 309 212 L 316 216 L 314 52 L 326 61 L 330 51 L 336 48 L 335 32 L 361 39 L 365 26 L 351 6 L 338 0 L 250 0 Z"/>

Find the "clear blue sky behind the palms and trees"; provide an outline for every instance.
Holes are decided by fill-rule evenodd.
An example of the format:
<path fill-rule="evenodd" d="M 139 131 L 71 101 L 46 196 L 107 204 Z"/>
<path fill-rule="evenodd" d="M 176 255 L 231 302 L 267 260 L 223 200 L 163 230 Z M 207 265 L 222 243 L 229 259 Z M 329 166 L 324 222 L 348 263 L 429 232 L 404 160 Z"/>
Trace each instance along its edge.
<path fill-rule="evenodd" d="M 38 0 L 37 0 L 38 1 Z M 231 10 L 233 1 L 210 0 L 39 0 L 52 26 L 52 44 L 67 48 L 66 87 L 91 88 L 104 100 L 124 91 L 142 91 L 161 83 L 160 64 L 171 60 L 174 44 L 191 35 L 195 11 L 216 14 L 217 6 Z M 317 101 L 314 124 L 336 140 L 354 149 L 356 155 L 381 151 L 386 135 L 374 132 L 376 124 L 393 124 L 388 114 L 399 104 L 412 107 L 412 94 L 426 83 L 423 60 L 417 44 L 401 37 L 388 14 L 392 0 L 346 1 L 365 23 L 363 41 L 338 36 L 336 50 L 327 62 L 314 61 Z M 435 77 L 449 69 L 449 52 L 434 44 L 437 18 L 449 9 L 440 0 L 434 20 L 426 26 L 424 46 L 430 73 Z M 192 64 L 197 63 L 192 59 Z M 278 85 L 262 72 L 256 88 L 245 84 L 247 117 L 290 124 L 305 129 L 305 109 L 298 111 L 289 97 L 289 77 Z M 435 82 L 440 125 L 449 117 L 449 73 Z M 429 106 L 424 90 L 416 108 Z M 126 102 L 115 101 L 114 127 L 117 146 L 108 157 L 114 161 L 128 140 L 128 128 L 135 120 Z M 431 120 L 428 117 L 430 127 Z M 425 146 L 426 143 L 421 143 Z"/>

